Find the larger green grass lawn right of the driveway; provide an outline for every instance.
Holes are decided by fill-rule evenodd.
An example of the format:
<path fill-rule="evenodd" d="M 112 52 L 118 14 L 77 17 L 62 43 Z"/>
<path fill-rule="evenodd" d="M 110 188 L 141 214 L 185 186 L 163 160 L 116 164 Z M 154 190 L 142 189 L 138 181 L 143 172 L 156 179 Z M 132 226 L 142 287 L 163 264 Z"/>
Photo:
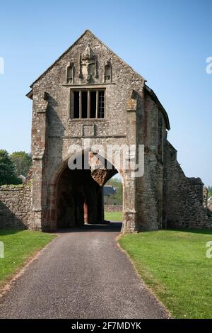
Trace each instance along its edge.
<path fill-rule="evenodd" d="M 136 270 L 176 318 L 212 318 L 212 231 L 141 232 L 119 243 Z"/>

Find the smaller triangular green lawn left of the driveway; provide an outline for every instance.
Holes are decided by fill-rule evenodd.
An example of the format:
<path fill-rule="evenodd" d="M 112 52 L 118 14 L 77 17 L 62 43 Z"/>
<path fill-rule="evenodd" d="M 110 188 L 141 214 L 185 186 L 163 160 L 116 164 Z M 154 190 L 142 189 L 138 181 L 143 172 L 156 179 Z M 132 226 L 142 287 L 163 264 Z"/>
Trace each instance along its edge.
<path fill-rule="evenodd" d="M 4 242 L 4 258 L 0 258 L 0 287 L 55 235 L 44 232 L 0 230 Z"/>

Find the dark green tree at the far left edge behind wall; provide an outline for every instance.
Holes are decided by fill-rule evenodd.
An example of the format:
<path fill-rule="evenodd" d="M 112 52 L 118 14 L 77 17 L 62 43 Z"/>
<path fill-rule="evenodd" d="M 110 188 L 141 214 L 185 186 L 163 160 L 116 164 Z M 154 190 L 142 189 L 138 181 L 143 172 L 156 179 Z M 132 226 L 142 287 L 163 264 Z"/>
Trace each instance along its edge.
<path fill-rule="evenodd" d="M 15 165 L 8 152 L 0 149 L 0 186 L 4 184 L 21 184 L 21 180 L 16 176 Z"/>

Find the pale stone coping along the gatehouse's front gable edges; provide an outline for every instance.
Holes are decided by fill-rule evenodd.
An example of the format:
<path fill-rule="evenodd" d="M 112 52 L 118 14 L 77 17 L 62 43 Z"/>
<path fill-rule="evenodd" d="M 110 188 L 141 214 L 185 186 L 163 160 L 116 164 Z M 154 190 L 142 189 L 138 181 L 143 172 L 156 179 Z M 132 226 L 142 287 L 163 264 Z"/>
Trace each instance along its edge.
<path fill-rule="evenodd" d="M 143 79 L 144 81 L 146 81 L 139 73 L 137 73 L 131 66 L 129 66 L 129 64 L 126 64 L 126 62 L 124 62 L 124 60 L 122 60 L 122 58 L 120 58 L 115 52 L 113 52 L 110 47 L 108 47 L 107 45 L 105 45 L 104 43 L 102 43 L 102 40 L 100 40 L 98 37 L 96 37 L 93 33 L 91 33 L 90 30 L 86 30 L 77 40 L 76 42 L 74 42 L 62 55 L 59 56 L 59 58 L 57 58 L 57 60 L 55 60 L 55 62 L 53 62 L 53 64 L 51 64 L 51 66 L 49 66 L 45 72 L 43 72 L 40 77 L 37 77 L 37 79 L 30 85 L 30 88 L 33 88 L 33 84 L 35 84 L 35 82 L 37 82 L 39 79 L 41 79 L 48 71 L 49 69 L 51 69 L 54 64 L 56 64 L 62 57 L 64 57 L 64 55 L 66 55 L 67 52 L 69 52 L 71 50 L 71 48 L 76 45 L 78 43 L 79 40 L 81 40 L 81 38 L 83 38 L 84 35 L 86 34 L 90 34 L 93 38 L 95 38 L 96 40 L 98 40 L 99 43 L 101 43 L 102 45 L 104 45 L 105 47 L 107 47 L 107 50 L 110 50 L 110 52 L 112 52 L 121 62 L 123 62 L 123 64 L 127 65 L 129 68 L 131 68 L 132 71 L 134 71 L 136 74 L 139 75 L 139 77 L 141 77 L 141 79 Z M 28 93 L 29 94 L 29 93 Z"/>

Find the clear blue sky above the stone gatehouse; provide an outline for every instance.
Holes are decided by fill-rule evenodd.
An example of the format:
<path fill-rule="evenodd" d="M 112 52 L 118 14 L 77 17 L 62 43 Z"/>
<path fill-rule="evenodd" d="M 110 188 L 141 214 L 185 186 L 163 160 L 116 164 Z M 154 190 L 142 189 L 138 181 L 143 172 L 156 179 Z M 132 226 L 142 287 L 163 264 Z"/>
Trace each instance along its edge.
<path fill-rule="evenodd" d="M 211 0 L 1 1 L 0 147 L 30 151 L 30 84 L 90 29 L 147 80 L 187 176 L 212 185 Z"/>

